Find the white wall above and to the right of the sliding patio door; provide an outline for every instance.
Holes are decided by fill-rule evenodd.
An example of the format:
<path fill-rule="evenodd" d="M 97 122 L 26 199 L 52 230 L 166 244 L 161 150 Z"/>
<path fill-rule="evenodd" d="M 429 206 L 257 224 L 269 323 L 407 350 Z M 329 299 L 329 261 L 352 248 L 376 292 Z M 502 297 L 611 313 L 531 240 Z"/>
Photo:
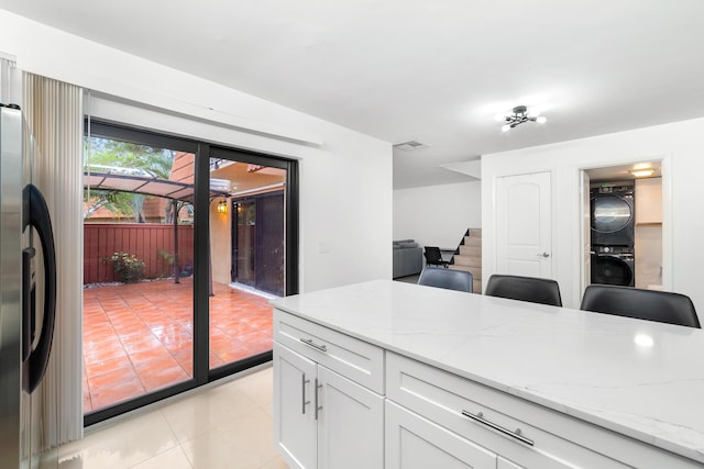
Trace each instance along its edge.
<path fill-rule="evenodd" d="M 0 22 L 0 52 L 97 91 L 94 116 L 298 158 L 301 292 L 392 277 L 391 144 L 3 10 Z"/>

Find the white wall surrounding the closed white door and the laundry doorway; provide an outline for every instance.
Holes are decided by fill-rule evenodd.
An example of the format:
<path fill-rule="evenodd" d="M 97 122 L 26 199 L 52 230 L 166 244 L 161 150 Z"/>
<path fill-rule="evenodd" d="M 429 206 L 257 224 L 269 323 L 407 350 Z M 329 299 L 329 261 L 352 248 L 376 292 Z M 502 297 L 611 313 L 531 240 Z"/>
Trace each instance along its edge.
<path fill-rule="evenodd" d="M 554 277 L 565 306 L 579 308 L 580 169 L 662 160 L 663 286 L 692 298 L 704 320 L 701 281 L 704 250 L 704 119 L 601 135 L 554 145 L 485 155 L 482 158 L 483 266 L 495 271 L 494 198 L 496 178 L 537 171 L 552 172 Z"/>

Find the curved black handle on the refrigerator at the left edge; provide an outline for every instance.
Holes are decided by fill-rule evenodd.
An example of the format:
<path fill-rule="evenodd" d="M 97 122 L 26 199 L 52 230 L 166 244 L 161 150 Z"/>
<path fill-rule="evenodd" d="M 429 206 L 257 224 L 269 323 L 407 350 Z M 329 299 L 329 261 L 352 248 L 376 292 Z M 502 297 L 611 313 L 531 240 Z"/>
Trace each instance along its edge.
<path fill-rule="evenodd" d="M 42 381 L 46 366 L 48 365 L 48 355 L 52 350 L 52 339 L 54 337 L 54 321 L 56 319 L 56 250 L 54 248 L 54 233 L 52 230 L 52 221 L 48 215 L 48 208 L 46 201 L 42 196 L 42 192 L 34 185 L 26 185 L 22 191 L 23 210 L 22 210 L 22 226 L 23 230 L 28 226 L 33 226 L 40 236 L 42 243 L 42 254 L 44 257 L 44 317 L 42 320 L 42 332 L 36 344 L 36 348 L 30 353 L 29 368 L 30 377 L 28 383 L 28 391 L 31 393 Z M 28 276 L 24 277 L 25 280 Z M 31 278 L 29 283 L 22 286 L 24 289 L 24 298 L 31 298 L 30 292 L 33 289 Z M 33 303 L 23 305 L 29 308 L 25 310 L 25 317 L 34 315 Z M 31 330 L 31 327 L 30 327 Z M 28 333 L 24 333 L 25 337 Z M 30 336 L 33 332 L 29 333 Z"/>

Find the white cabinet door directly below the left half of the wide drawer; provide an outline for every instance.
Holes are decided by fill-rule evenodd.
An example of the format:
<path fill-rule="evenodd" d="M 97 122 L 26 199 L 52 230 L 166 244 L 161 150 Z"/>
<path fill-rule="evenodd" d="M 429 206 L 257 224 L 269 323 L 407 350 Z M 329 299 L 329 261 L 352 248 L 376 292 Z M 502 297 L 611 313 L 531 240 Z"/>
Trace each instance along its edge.
<path fill-rule="evenodd" d="M 386 469 L 495 469 L 496 455 L 386 401 Z"/>

